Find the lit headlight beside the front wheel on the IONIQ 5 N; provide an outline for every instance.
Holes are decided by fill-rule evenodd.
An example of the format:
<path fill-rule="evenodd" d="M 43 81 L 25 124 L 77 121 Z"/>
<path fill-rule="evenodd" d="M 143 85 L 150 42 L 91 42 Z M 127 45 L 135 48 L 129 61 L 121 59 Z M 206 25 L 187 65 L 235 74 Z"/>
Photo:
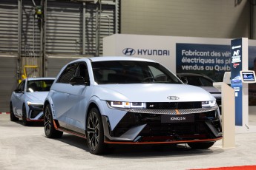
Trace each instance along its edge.
<path fill-rule="evenodd" d="M 140 108 L 145 109 L 144 102 L 108 101 L 108 105 L 117 108 Z"/>

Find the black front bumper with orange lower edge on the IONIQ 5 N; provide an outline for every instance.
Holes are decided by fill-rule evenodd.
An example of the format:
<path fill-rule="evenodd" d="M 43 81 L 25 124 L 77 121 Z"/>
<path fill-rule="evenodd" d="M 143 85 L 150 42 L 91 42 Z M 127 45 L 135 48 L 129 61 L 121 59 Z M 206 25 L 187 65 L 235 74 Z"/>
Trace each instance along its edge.
<path fill-rule="evenodd" d="M 148 110 L 127 109 L 111 130 L 102 116 L 105 143 L 188 143 L 222 138 L 220 113 L 209 109 Z"/>

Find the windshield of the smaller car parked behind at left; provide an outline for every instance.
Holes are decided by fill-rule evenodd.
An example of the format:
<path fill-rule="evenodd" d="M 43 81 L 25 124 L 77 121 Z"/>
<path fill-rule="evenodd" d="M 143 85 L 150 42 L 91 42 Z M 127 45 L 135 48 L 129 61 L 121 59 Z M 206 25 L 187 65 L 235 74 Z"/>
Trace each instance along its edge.
<path fill-rule="evenodd" d="M 27 92 L 47 92 L 54 80 L 27 81 Z"/>

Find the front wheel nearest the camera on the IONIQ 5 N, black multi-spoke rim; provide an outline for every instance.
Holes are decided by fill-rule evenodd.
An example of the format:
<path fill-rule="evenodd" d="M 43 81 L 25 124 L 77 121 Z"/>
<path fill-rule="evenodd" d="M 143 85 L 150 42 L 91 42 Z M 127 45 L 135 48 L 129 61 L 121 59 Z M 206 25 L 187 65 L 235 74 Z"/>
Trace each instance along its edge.
<path fill-rule="evenodd" d="M 99 109 L 92 108 L 87 118 L 86 138 L 91 154 L 104 154 L 104 130 Z"/>

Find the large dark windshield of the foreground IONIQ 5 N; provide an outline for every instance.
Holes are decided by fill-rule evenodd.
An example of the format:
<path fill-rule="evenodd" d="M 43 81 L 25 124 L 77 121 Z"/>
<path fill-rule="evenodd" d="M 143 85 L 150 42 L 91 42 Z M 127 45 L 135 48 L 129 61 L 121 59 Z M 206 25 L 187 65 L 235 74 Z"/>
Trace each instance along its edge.
<path fill-rule="evenodd" d="M 168 69 L 146 61 L 96 61 L 92 63 L 97 84 L 182 84 Z"/>

